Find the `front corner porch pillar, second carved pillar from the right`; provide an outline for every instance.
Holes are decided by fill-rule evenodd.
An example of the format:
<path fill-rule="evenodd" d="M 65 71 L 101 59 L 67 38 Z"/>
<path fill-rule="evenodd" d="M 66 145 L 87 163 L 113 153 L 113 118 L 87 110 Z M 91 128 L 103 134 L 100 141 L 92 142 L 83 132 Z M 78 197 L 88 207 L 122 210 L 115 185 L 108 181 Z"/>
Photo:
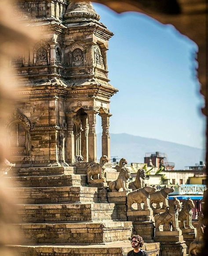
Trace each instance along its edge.
<path fill-rule="evenodd" d="M 89 124 L 89 133 L 88 133 L 88 161 L 97 160 L 97 136 L 95 131 L 96 125 L 96 112 L 94 110 L 86 111 L 88 114 L 88 124 Z"/>

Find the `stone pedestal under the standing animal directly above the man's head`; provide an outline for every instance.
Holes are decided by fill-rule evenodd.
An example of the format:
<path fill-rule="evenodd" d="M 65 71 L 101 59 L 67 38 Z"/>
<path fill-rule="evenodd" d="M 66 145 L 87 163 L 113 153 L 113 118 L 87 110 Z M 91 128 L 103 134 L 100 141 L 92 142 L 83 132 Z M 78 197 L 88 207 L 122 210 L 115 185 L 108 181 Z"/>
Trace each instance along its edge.
<path fill-rule="evenodd" d="M 145 242 L 153 242 L 153 211 L 128 211 L 127 216 L 128 221 L 131 221 L 133 224 L 133 233 L 142 236 Z"/>

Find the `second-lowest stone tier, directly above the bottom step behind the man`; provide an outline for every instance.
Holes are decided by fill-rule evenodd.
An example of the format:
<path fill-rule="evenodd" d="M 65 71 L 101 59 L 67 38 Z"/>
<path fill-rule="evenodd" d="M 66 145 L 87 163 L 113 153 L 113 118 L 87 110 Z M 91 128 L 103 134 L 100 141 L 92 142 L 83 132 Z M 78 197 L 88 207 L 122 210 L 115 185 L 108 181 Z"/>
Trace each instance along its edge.
<path fill-rule="evenodd" d="M 16 224 L 25 244 L 105 243 L 128 240 L 132 222 Z"/>

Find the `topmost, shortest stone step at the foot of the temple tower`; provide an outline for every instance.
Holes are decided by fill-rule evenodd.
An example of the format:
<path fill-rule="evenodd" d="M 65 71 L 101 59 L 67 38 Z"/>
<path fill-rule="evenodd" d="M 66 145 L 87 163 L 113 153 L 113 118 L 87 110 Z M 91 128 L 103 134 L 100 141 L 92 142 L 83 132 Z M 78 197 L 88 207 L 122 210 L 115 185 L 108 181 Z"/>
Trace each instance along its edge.
<path fill-rule="evenodd" d="M 74 166 L 50 166 L 50 167 L 13 167 L 8 176 L 49 176 L 49 175 L 62 175 L 76 173 Z"/>

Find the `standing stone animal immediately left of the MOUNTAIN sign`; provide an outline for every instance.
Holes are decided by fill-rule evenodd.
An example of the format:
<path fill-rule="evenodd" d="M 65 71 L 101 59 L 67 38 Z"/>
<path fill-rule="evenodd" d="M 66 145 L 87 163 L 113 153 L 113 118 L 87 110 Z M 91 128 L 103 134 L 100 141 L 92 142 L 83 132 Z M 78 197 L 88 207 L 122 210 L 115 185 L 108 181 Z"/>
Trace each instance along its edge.
<path fill-rule="evenodd" d="M 153 203 L 157 203 L 156 209 L 166 209 L 168 207 L 168 194 L 174 192 L 174 188 L 166 187 L 162 188 L 159 191 L 153 192 L 150 194 L 150 205 L 153 207 Z M 163 206 L 160 206 L 160 203 L 163 203 Z"/>

